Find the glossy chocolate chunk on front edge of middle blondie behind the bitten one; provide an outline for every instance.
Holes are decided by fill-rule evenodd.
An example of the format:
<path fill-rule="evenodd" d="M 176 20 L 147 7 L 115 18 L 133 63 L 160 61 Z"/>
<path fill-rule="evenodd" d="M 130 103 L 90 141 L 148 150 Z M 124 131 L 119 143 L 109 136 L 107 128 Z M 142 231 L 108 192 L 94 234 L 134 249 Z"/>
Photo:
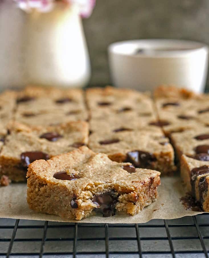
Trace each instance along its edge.
<path fill-rule="evenodd" d="M 127 162 L 138 168 L 150 166 L 153 161 L 156 161 L 155 155 L 146 151 L 130 151 L 127 153 Z"/>

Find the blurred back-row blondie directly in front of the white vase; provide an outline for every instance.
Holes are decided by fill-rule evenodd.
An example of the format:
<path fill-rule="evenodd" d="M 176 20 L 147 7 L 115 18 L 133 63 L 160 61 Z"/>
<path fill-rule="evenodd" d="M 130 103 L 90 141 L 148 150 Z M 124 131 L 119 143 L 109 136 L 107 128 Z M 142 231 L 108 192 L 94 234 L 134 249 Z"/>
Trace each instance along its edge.
<path fill-rule="evenodd" d="M 18 93 L 15 120 L 28 125 L 50 125 L 87 120 L 83 91 L 26 87 Z"/>

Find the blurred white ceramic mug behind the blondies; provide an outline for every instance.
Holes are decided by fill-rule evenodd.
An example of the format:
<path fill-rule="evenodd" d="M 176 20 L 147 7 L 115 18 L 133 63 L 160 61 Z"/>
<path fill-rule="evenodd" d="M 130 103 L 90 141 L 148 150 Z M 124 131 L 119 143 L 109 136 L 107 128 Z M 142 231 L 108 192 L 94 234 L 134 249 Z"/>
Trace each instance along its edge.
<path fill-rule="evenodd" d="M 141 91 L 172 84 L 196 92 L 204 90 L 208 46 L 195 41 L 140 39 L 108 47 L 113 85 Z"/>

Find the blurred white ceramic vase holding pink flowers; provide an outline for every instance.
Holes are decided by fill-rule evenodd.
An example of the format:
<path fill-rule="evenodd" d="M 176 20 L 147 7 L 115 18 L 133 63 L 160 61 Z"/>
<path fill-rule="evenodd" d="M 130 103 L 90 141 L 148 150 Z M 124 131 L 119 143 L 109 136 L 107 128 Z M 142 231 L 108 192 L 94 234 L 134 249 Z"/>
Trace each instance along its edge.
<path fill-rule="evenodd" d="M 10 46 L 15 59 L 10 54 L 11 62 L 6 62 L 8 64 L 4 71 L 0 71 L 1 87 L 25 84 L 85 86 L 90 78 L 90 61 L 77 6 L 69 7 L 58 3 L 49 13 L 33 11 L 26 14 L 19 9 L 16 9 L 16 12 L 22 14 L 17 17 L 20 25 L 17 28 L 19 31 L 16 32 L 17 35 L 21 34 L 21 37 L 16 37 L 19 39 L 18 48 L 13 49 Z M 15 22 L 13 18 L 9 21 L 8 15 L 5 19 L 5 24 Z M 3 46 L 9 53 L 7 44 L 11 45 L 12 37 L 4 38 L 3 30 L 0 33 Z M 15 46 L 15 42 L 13 43 Z M 6 54 L 4 60 L 7 60 Z M 11 81 L 13 73 L 16 74 L 15 81 Z"/>

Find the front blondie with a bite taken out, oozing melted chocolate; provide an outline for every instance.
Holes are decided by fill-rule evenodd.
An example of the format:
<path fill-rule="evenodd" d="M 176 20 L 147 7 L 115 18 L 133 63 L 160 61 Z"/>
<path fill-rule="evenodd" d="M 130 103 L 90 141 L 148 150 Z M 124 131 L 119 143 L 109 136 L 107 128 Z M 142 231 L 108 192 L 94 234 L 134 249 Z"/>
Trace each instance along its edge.
<path fill-rule="evenodd" d="M 117 163 L 83 146 L 37 160 L 28 167 L 27 201 L 31 209 L 81 220 L 94 213 L 139 213 L 155 201 L 160 173 Z"/>

